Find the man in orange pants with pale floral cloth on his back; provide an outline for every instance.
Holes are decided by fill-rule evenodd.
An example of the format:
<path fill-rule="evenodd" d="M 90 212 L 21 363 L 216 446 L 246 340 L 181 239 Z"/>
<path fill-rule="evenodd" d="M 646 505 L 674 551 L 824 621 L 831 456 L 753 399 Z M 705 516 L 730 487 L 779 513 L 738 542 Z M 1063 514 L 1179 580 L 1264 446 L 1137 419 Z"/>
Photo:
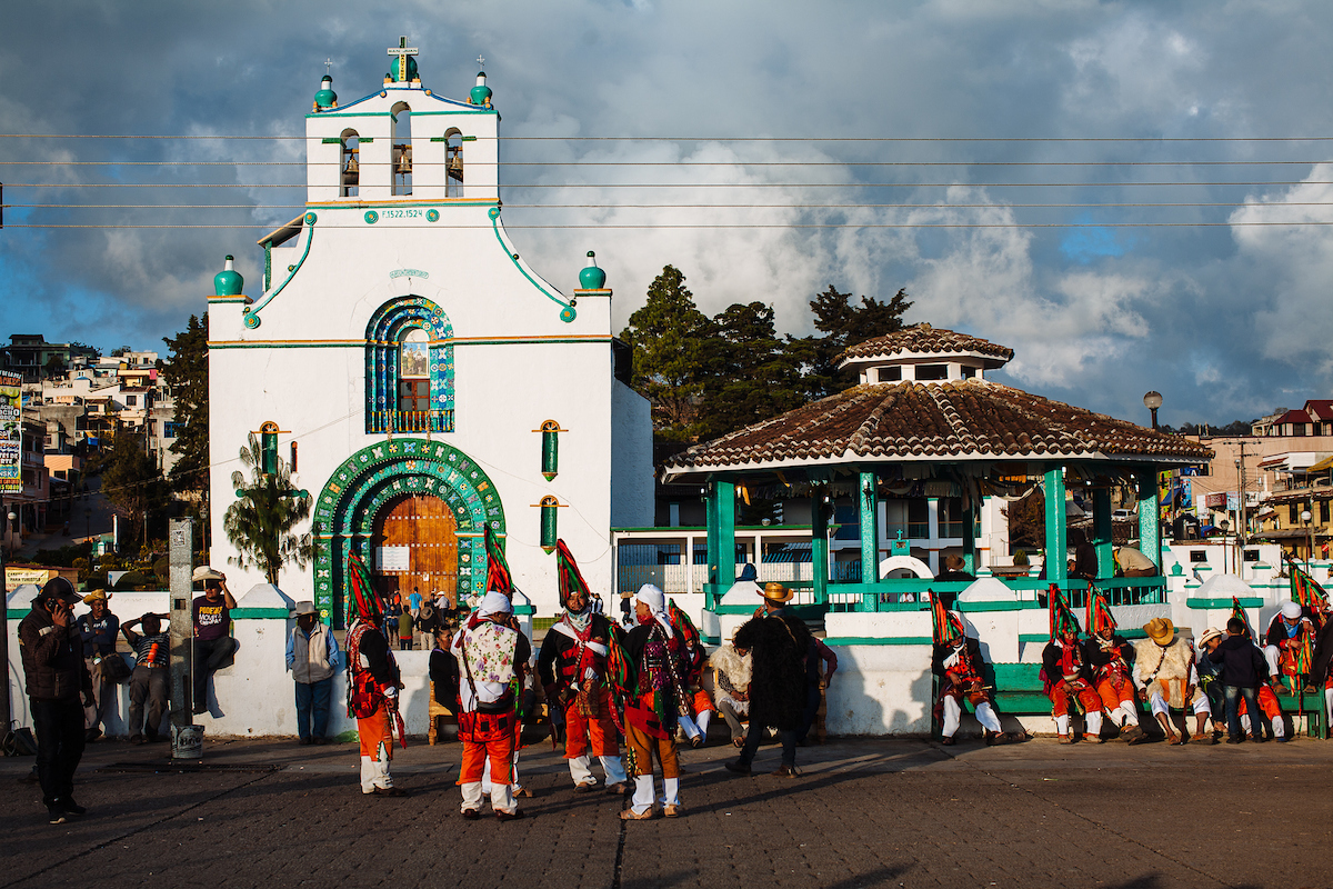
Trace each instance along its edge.
<path fill-rule="evenodd" d="M 459 658 L 459 740 L 463 741 L 463 817 L 475 821 L 481 810 L 481 773 L 491 761 L 491 809 L 501 821 L 521 818 L 513 800 L 512 761 L 517 701 L 515 680 L 532 656 L 528 637 L 511 626 L 513 605 L 504 593 L 489 592 L 477 613 L 453 637 Z"/>

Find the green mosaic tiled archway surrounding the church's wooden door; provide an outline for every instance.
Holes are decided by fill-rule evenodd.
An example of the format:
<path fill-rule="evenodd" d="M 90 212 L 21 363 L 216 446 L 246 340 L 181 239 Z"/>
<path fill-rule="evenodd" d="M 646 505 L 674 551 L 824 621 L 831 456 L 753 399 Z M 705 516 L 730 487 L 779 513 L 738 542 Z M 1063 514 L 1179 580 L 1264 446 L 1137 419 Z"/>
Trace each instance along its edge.
<path fill-rule="evenodd" d="M 457 448 L 424 439 L 395 439 L 357 450 L 333 470 L 315 501 L 315 605 L 333 626 L 344 626 L 347 554 L 371 568 L 375 518 L 404 493 L 435 494 L 459 525 L 459 592 L 485 592 L 484 526 L 503 540 L 504 506 L 489 476 Z"/>

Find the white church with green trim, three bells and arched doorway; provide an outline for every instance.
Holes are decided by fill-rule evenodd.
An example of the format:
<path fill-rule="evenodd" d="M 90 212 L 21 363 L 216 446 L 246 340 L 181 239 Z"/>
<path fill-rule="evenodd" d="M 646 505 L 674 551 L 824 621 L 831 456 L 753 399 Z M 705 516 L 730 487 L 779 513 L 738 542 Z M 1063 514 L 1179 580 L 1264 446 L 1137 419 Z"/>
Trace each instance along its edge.
<path fill-rule="evenodd" d="M 521 259 L 485 75 L 445 99 L 413 52 L 391 49 L 393 72 L 356 101 L 325 77 L 305 123 L 305 212 L 260 241 L 259 295 L 228 261 L 209 297 L 211 561 L 236 556 L 231 474 L 267 433 L 313 497 L 297 530 L 315 561 L 287 565 L 280 586 L 335 626 L 349 552 L 383 593 L 475 597 L 489 525 L 551 614 L 556 537 L 609 597 L 611 528 L 653 516 L 648 403 L 624 381 L 605 275 L 589 261 L 567 296 Z M 237 592 L 264 582 L 227 570 Z"/>

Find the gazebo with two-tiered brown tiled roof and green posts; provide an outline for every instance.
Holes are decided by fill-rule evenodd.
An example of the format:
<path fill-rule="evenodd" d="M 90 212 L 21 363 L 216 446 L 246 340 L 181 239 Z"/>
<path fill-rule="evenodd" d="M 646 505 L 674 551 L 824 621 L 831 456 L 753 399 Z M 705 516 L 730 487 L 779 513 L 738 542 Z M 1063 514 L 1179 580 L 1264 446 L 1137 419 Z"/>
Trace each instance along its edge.
<path fill-rule="evenodd" d="M 708 564 L 705 592 L 712 608 L 733 576 L 724 553 L 734 552 L 734 496 L 774 485 L 804 488 L 812 501 L 812 553 L 828 564 L 829 489 L 860 496 L 860 582 L 830 582 L 814 570 L 810 602 L 826 608 L 830 592 L 861 610 L 892 606 L 901 590 L 922 581 L 878 577 L 878 492 L 902 480 L 950 482 L 962 493 L 964 553 L 974 568 L 974 517 L 989 494 L 1014 494 L 1040 485 L 1045 492 L 1046 577 L 1009 580 L 1017 586 L 1058 584 L 1066 577 L 1065 489 L 1092 493 L 1093 544 L 1098 586 L 1125 601 L 1161 578 L 1112 578 L 1110 489 L 1136 490 L 1141 549 L 1161 565 L 1157 528 L 1157 474 L 1205 462 L 1212 452 L 1196 441 L 1093 413 L 1013 387 L 993 383 L 988 371 L 1004 367 L 1013 351 L 980 337 L 928 324 L 876 337 L 846 349 L 838 365 L 854 368 L 860 383 L 728 436 L 698 444 L 663 466 L 666 482 L 702 482 L 708 490 Z M 852 488 L 854 485 L 854 488 Z M 721 565 L 726 565 L 718 570 Z M 866 573 L 866 565 L 872 573 Z M 932 584 L 933 588 L 946 588 Z M 961 588 L 961 585 L 960 585 Z M 1117 592 L 1118 590 L 1118 592 Z M 916 597 L 913 597 L 916 598 Z"/>

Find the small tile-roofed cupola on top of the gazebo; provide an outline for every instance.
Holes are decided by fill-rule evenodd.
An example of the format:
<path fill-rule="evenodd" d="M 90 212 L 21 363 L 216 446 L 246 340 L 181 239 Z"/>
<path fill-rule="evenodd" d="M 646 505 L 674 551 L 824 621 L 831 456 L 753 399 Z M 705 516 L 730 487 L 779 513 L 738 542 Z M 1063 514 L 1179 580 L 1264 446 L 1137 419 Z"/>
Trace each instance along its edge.
<path fill-rule="evenodd" d="M 840 368 L 854 368 L 860 383 L 948 383 L 984 380 L 1002 368 L 1013 349 L 981 337 L 917 324 L 846 349 Z"/>

